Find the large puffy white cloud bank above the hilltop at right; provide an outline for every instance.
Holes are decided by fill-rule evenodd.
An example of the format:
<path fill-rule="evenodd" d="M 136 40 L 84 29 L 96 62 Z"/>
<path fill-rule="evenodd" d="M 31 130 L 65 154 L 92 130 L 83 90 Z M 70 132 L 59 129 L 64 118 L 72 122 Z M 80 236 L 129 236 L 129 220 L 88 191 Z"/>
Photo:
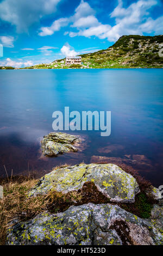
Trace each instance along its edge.
<path fill-rule="evenodd" d="M 82 1 L 81 4 L 84 4 L 84 1 Z M 116 41 L 122 35 L 142 35 L 143 33 L 152 32 L 155 32 L 155 34 L 162 33 L 163 16 L 156 20 L 148 17 L 149 9 L 156 4 L 158 4 L 156 0 L 139 0 L 130 4 L 129 7 L 123 8 L 122 0 L 118 0 L 117 7 L 110 14 L 110 17 L 115 19 L 115 26 L 103 25 L 95 16 L 91 15 L 92 24 L 90 22 L 90 26 L 87 25 L 87 27 L 84 28 L 82 21 L 83 25 L 86 24 L 86 20 L 88 24 L 90 21 L 90 15 L 84 15 L 84 19 L 80 17 L 80 19 L 74 21 L 72 25 L 72 27 L 76 27 L 77 32 L 70 31 L 69 35 L 71 37 L 82 35 L 88 38 L 90 36 L 97 36 L 99 39 Z M 93 24 L 93 20 L 96 21 L 96 24 Z"/>

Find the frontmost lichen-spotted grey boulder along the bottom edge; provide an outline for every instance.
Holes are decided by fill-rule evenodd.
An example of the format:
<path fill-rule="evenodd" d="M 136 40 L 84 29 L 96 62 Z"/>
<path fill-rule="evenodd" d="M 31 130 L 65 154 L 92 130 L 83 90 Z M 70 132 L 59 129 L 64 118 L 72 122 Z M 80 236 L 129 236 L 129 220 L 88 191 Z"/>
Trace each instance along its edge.
<path fill-rule="evenodd" d="M 14 223 L 12 223 L 14 224 Z M 111 204 L 71 206 L 44 212 L 8 229 L 7 245 L 161 245 L 161 230 L 151 220 Z"/>

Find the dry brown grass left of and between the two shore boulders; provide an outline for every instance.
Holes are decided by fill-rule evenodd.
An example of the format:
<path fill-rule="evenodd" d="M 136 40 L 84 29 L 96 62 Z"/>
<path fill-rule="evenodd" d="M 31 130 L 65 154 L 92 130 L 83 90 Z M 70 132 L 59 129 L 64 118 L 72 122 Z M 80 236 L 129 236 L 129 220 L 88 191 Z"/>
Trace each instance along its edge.
<path fill-rule="evenodd" d="M 27 221 L 43 211 L 58 212 L 69 208 L 81 199 L 76 191 L 68 194 L 51 191 L 46 196 L 28 197 L 27 194 L 38 179 L 31 176 L 11 176 L 0 180 L 3 199 L 0 199 L 0 245 L 5 244 L 7 228 L 14 218 Z"/>

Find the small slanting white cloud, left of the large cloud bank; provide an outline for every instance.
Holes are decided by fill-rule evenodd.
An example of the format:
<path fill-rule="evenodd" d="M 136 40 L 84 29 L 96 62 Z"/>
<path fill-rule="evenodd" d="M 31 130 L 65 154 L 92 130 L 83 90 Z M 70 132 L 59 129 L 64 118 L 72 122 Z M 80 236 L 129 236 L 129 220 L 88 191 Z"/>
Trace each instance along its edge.
<path fill-rule="evenodd" d="M 59 20 L 55 20 L 52 23 L 52 26 L 41 27 L 40 28 L 41 32 L 39 32 L 39 35 L 40 36 L 52 35 L 52 34 L 54 34 L 54 32 L 59 31 L 61 29 L 61 27 L 67 26 L 68 23 L 69 23 L 69 19 L 67 19 L 67 18 L 61 18 Z"/>

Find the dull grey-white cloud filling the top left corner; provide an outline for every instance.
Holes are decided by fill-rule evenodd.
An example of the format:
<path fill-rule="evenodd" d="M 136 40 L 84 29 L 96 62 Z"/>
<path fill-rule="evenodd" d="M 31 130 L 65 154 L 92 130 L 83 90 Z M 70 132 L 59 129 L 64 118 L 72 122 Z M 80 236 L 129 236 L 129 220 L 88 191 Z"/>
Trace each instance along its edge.
<path fill-rule="evenodd" d="M 56 11 L 61 0 L 4 0 L 0 3 L 0 18 L 16 26 L 17 32 L 27 32 L 29 26 L 43 16 Z"/>

